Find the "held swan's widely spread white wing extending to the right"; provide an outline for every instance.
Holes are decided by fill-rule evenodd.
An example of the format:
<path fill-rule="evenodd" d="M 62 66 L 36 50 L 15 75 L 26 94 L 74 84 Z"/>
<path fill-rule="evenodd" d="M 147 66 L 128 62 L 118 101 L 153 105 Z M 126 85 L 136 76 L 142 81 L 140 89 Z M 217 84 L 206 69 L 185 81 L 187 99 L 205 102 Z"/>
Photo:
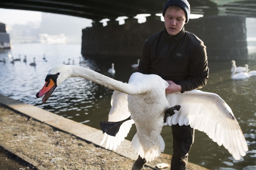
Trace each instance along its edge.
<path fill-rule="evenodd" d="M 227 103 L 217 94 L 192 90 L 166 96 L 170 107 L 181 105 L 165 125 L 190 125 L 223 145 L 235 160 L 245 156 L 248 146 L 242 130 Z"/>

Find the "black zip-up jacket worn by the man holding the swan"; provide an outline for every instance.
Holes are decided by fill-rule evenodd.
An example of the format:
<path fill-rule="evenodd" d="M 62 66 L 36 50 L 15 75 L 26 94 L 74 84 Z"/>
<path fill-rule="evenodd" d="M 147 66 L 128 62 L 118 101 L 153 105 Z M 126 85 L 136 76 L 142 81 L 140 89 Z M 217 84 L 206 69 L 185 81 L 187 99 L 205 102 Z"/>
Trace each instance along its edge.
<path fill-rule="evenodd" d="M 182 93 L 202 88 L 208 80 L 206 46 L 183 29 L 171 36 L 164 29 L 143 44 L 138 72 L 156 74 L 181 85 Z"/>

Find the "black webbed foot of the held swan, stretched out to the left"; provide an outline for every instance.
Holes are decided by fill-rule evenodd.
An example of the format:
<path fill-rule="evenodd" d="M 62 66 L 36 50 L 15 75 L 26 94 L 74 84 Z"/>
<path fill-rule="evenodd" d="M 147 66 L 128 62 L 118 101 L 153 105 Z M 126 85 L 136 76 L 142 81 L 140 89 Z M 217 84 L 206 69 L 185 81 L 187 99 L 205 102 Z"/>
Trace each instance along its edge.
<path fill-rule="evenodd" d="M 131 116 L 119 122 L 99 122 L 99 124 L 103 133 L 106 132 L 110 136 L 116 136 L 117 132 L 120 129 L 120 126 L 123 124 L 123 122 L 126 122 L 127 120 L 131 120 Z"/>

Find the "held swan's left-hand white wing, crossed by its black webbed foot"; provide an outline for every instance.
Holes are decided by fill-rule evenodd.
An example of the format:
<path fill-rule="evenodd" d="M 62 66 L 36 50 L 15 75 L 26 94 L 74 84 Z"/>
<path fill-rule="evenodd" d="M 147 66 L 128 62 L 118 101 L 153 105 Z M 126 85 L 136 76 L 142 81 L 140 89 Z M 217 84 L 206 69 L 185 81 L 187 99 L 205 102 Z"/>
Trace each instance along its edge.
<path fill-rule="evenodd" d="M 131 116 L 128 109 L 127 94 L 123 92 L 114 91 L 111 97 L 111 109 L 108 114 L 109 122 L 118 122 Z M 106 149 L 116 150 L 117 146 L 124 140 L 134 123 L 133 120 L 124 122 L 116 134 L 116 136 L 110 136 L 104 133 L 104 137 L 100 143 L 102 145 L 106 141 Z"/>

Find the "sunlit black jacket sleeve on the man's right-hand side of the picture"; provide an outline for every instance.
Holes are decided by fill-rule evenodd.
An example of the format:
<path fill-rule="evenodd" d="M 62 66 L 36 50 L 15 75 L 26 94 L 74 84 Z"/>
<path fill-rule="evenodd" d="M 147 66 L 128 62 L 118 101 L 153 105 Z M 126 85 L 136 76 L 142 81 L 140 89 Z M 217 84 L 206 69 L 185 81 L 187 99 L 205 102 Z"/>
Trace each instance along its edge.
<path fill-rule="evenodd" d="M 208 80 L 208 73 L 206 46 L 201 42 L 196 46 L 190 58 L 189 78 L 178 83 L 182 88 L 181 93 L 205 86 Z"/>

